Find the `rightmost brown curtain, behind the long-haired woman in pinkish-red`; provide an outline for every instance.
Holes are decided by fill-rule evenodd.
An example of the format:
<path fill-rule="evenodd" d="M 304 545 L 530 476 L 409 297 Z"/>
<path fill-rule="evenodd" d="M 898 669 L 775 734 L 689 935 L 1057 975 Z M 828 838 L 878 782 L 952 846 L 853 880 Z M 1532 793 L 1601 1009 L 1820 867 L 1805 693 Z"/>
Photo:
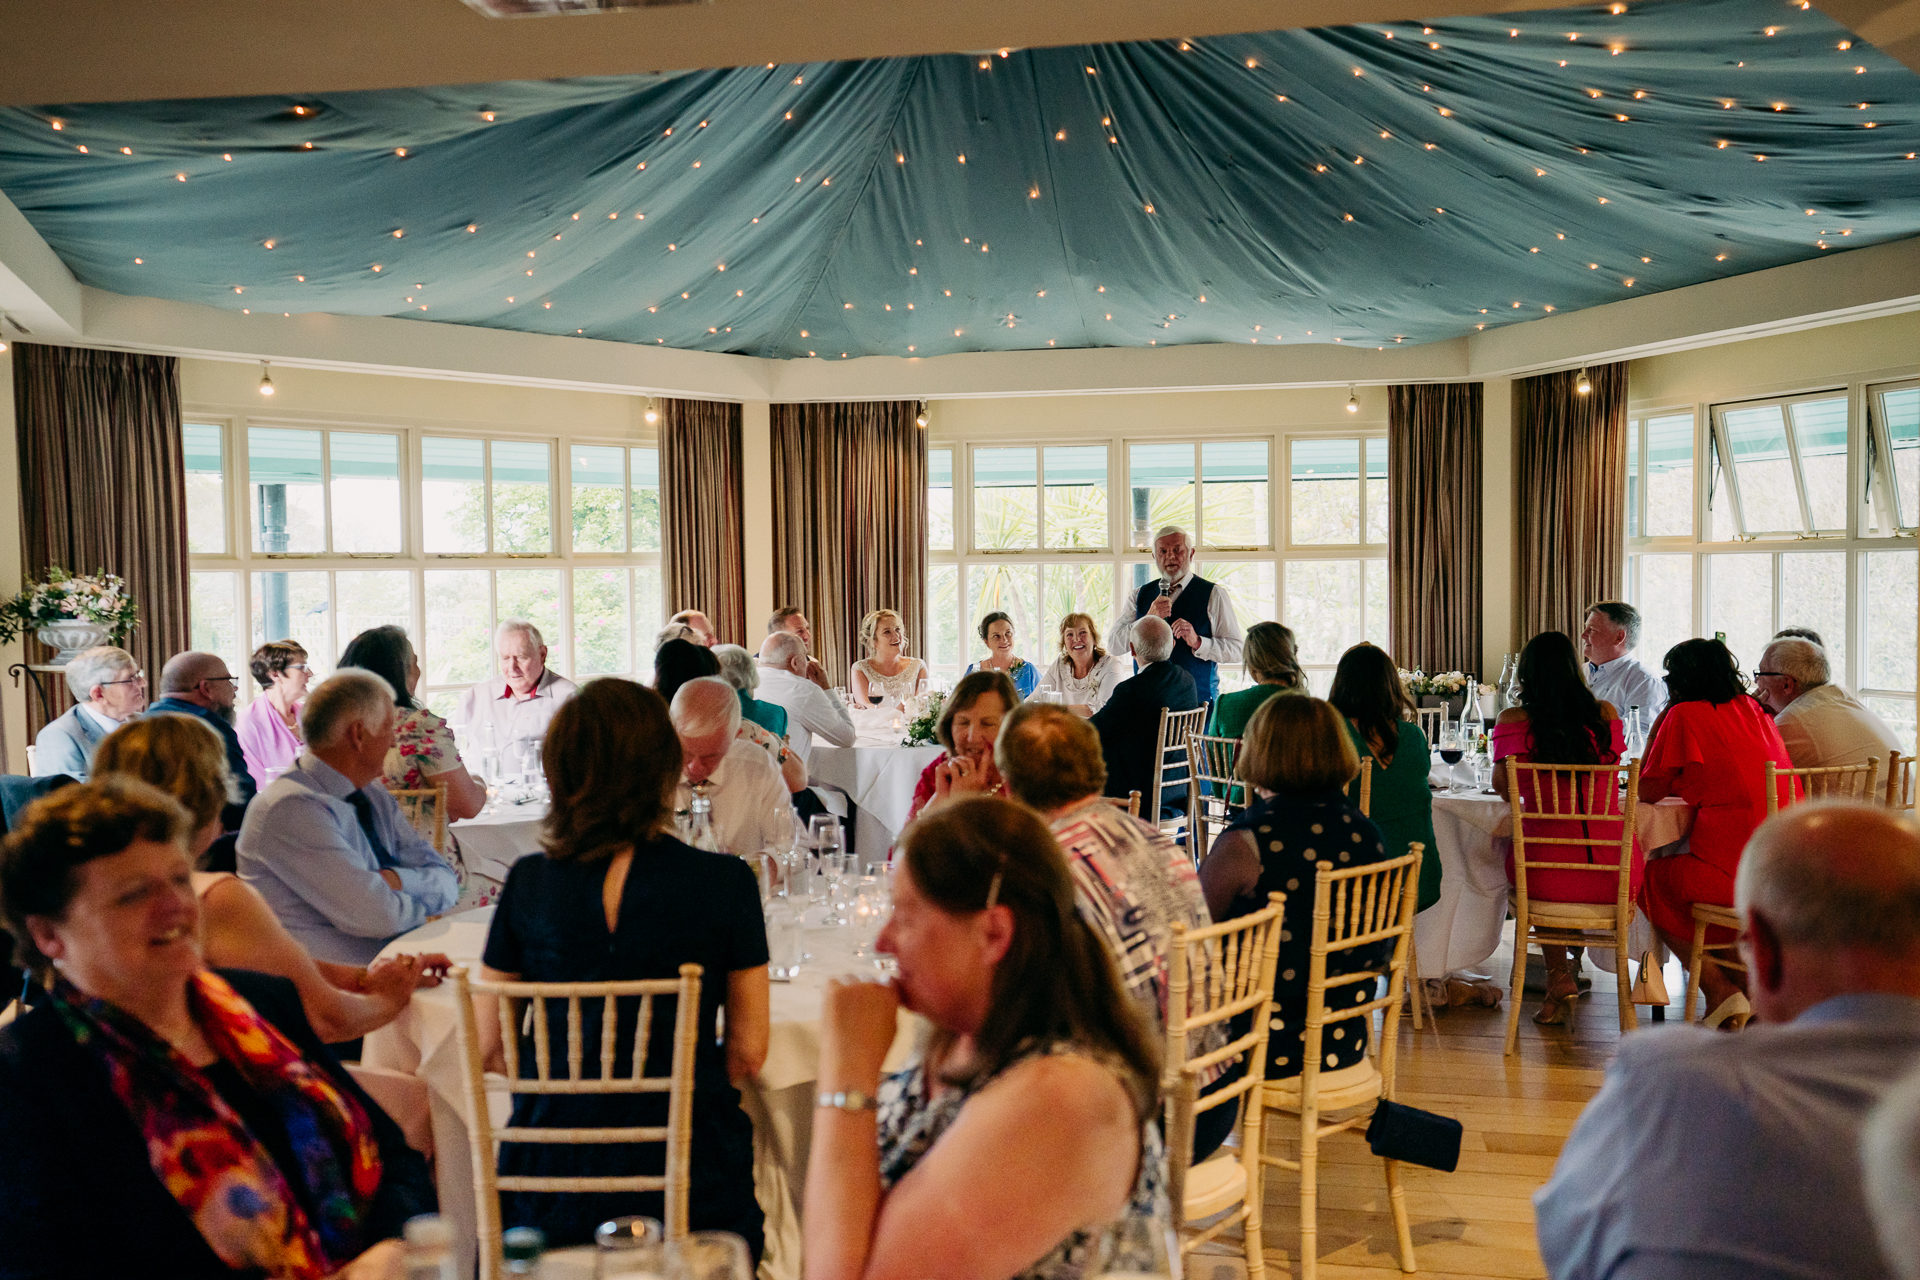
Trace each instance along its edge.
<path fill-rule="evenodd" d="M 1578 637 L 1586 606 L 1619 599 L 1626 568 L 1626 365 L 1521 378 L 1515 388 L 1519 641 Z"/>

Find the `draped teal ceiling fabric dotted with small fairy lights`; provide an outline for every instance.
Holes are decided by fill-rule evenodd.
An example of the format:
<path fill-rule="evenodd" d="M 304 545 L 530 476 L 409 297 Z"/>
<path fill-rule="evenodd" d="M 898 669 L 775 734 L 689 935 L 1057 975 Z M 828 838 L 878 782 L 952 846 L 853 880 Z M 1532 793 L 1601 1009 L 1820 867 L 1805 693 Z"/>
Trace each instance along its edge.
<path fill-rule="evenodd" d="M 1912 236 L 1916 150 L 1820 12 L 1655 0 L 8 109 L 0 190 L 119 294 L 843 359 L 1444 340 Z"/>

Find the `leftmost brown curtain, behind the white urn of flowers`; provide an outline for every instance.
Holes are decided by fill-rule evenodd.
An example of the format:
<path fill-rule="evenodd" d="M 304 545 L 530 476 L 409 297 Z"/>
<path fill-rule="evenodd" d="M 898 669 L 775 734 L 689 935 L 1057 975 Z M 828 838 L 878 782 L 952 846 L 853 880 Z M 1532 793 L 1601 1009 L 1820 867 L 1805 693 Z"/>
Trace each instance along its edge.
<path fill-rule="evenodd" d="M 192 645 L 186 576 L 186 464 L 180 445 L 180 363 L 171 355 L 13 347 L 19 436 L 21 570 L 50 564 L 127 580 L 140 624 L 119 643 L 157 683 L 167 658 Z M 54 651 L 27 639 L 27 660 Z M 58 716 L 65 681 L 38 676 Z M 27 737 L 46 723 L 27 699 Z"/>

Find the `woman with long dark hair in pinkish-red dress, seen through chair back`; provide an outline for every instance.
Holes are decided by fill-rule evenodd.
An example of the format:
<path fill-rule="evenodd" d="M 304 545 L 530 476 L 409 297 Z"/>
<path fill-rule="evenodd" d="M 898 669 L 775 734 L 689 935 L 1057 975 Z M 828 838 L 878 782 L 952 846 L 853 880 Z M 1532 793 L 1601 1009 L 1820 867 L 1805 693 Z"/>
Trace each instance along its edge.
<path fill-rule="evenodd" d="M 1490 745 L 1494 748 L 1496 791 L 1501 794 L 1507 791 L 1507 760 L 1521 764 L 1619 764 L 1620 754 L 1626 750 L 1620 714 L 1613 708 L 1613 702 L 1601 702 L 1588 689 L 1586 674 L 1580 670 L 1580 654 L 1574 652 L 1572 641 L 1563 631 L 1542 631 L 1526 641 L 1526 649 L 1521 651 L 1519 681 L 1521 704 L 1500 712 L 1500 720 L 1494 722 Z M 1576 777 L 1584 779 L 1592 775 L 1526 775 L 1521 789 L 1521 806 L 1532 810 L 1540 798 L 1534 791 L 1538 789 L 1544 794 L 1551 787 L 1555 794 L 1549 798 L 1549 808 L 1563 814 L 1582 812 L 1584 806 L 1576 800 Z M 1622 808 L 1617 793 L 1617 783 L 1601 789 L 1607 802 L 1605 812 L 1609 814 L 1619 814 Z M 1526 837 L 1619 841 L 1620 825 L 1528 821 Z M 1534 854 L 1536 862 L 1574 862 L 1584 858 L 1607 867 L 1617 865 L 1609 858 L 1596 858 L 1597 848 L 1582 850 L 1576 844 L 1546 844 L 1542 848 L 1544 852 Z M 1630 896 L 1640 894 L 1644 865 L 1645 854 L 1640 850 L 1640 841 L 1634 841 L 1632 865 L 1628 867 Z M 1507 854 L 1507 883 L 1513 883 L 1511 852 Z M 1532 902 L 1613 902 L 1619 892 L 1617 887 L 1619 881 L 1613 875 L 1597 875 L 1594 871 L 1526 873 L 1526 896 Z M 1548 994 L 1540 1002 L 1534 1021 L 1542 1027 L 1559 1025 L 1567 1021 L 1569 1002 L 1578 996 L 1572 956 L 1565 946 L 1542 946 L 1540 956 L 1548 967 Z M 1519 998 L 1519 992 L 1515 992 L 1515 998 Z"/>

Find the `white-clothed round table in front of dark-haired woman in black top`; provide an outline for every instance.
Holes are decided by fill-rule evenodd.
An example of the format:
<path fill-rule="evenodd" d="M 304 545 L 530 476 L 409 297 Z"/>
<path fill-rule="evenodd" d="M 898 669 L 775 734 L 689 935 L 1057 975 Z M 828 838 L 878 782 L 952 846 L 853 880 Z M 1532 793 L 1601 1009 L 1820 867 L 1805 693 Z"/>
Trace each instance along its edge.
<path fill-rule="evenodd" d="M 463 823 L 465 825 L 465 823 Z M 808 908 L 808 921 L 822 908 Z M 386 944 L 382 956 L 397 952 L 445 952 L 455 963 L 467 965 L 474 977 L 480 954 L 486 950 L 488 925 L 493 908 L 447 915 L 420 925 Z M 741 1105 L 753 1119 L 753 1182 L 760 1209 L 766 1211 L 766 1253 L 758 1280 L 799 1280 L 801 1274 L 801 1217 L 799 1203 L 806 1186 L 806 1151 L 812 1144 L 814 1079 L 820 1073 L 820 1000 L 826 981 L 843 973 L 877 977 L 868 960 L 856 958 L 860 935 L 852 929 L 804 931 L 803 946 L 814 960 L 806 961 L 791 983 L 774 983 L 772 1036 L 766 1065 L 741 1088 Z M 906 1065 L 924 1023 L 904 1009 L 887 1071 Z M 472 1157 L 468 1153 L 470 1125 L 461 1086 L 461 1046 L 453 1021 L 453 988 L 415 992 L 413 1002 L 397 1019 L 367 1036 L 361 1063 L 374 1071 L 415 1077 L 426 1088 L 390 1102 L 405 1109 L 426 1107 L 426 1115 L 396 1115 L 407 1132 L 430 1132 L 434 1148 L 434 1178 L 440 1190 L 440 1213 L 453 1224 L 453 1240 L 461 1249 L 461 1270 L 472 1274 L 478 1221 L 474 1217 Z M 497 1077 L 495 1077 L 497 1079 Z M 388 1092 L 388 1096 L 397 1096 Z M 511 1100 L 505 1092 L 490 1092 L 495 1123 L 505 1123 Z M 386 1102 L 386 1098 L 382 1098 Z"/>

